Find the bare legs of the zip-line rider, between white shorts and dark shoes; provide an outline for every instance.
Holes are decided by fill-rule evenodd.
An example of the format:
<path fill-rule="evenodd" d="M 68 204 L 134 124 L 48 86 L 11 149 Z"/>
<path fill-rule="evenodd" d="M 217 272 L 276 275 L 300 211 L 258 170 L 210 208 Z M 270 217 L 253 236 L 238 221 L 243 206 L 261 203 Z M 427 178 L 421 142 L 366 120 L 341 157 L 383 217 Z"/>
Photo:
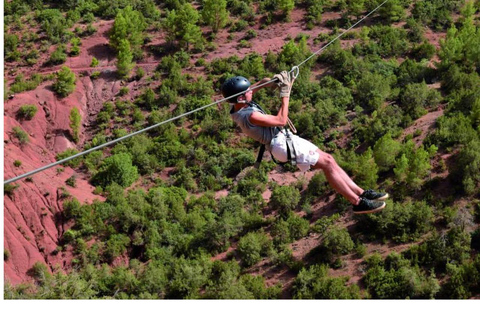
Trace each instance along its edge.
<path fill-rule="evenodd" d="M 317 152 L 320 154 L 320 158 L 313 168 L 322 169 L 333 189 L 347 198 L 353 205 L 358 204 L 360 197 L 356 192 L 358 192 L 360 188 L 348 177 L 345 171 L 340 168 L 331 155 L 321 150 L 317 150 Z M 352 187 L 355 191 L 352 190 Z"/>

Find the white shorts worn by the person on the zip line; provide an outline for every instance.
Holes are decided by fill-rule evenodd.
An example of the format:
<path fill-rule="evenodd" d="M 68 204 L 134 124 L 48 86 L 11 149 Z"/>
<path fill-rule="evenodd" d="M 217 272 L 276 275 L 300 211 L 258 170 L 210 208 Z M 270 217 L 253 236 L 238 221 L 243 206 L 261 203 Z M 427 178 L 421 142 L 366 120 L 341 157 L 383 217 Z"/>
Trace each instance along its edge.
<path fill-rule="evenodd" d="M 316 152 L 318 147 L 308 140 L 291 134 L 293 146 L 297 154 L 297 167 L 300 171 L 305 172 L 315 165 L 320 158 L 320 154 Z M 285 132 L 279 132 L 270 142 L 270 151 L 273 157 L 279 162 L 287 162 L 287 141 Z"/>

